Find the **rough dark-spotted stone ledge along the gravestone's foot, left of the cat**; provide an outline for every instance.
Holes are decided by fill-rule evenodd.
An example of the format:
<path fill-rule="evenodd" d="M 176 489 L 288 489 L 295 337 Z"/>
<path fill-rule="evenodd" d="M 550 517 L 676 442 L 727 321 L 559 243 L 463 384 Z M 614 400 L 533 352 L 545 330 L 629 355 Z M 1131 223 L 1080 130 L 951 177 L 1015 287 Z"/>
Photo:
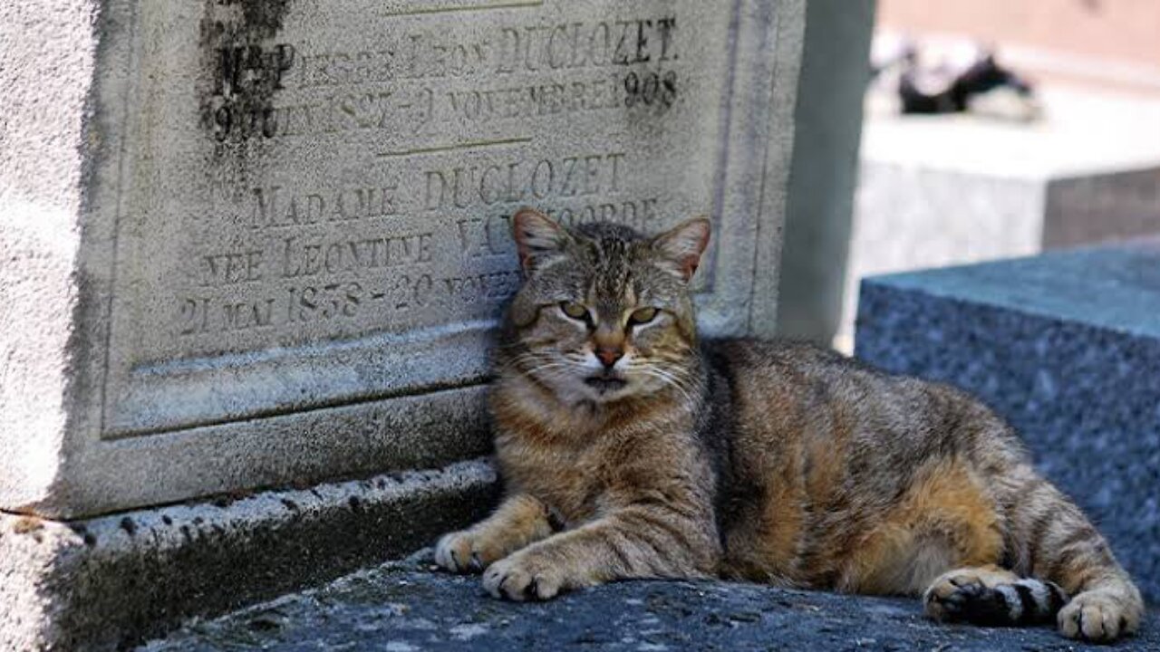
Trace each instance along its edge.
<path fill-rule="evenodd" d="M 483 516 L 483 459 L 87 521 L 0 514 L 0 650 L 114 650 L 399 558 Z"/>

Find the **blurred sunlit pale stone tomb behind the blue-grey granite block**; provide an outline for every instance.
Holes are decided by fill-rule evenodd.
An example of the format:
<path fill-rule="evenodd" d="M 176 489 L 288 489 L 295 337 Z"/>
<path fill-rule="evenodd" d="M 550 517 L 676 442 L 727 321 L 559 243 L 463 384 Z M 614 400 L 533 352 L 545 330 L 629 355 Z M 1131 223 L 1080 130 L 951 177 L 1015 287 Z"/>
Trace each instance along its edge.
<path fill-rule="evenodd" d="M 1044 116 L 872 115 L 841 335 L 861 278 L 1160 232 L 1160 101 L 1044 88 Z"/>

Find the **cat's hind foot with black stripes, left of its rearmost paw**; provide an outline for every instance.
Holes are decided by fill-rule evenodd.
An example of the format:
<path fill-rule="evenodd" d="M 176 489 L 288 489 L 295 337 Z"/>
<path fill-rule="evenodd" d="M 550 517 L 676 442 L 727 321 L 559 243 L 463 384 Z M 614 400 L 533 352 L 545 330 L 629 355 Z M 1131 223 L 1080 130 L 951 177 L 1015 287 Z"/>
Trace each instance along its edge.
<path fill-rule="evenodd" d="M 927 615 L 937 621 L 1029 625 L 1053 621 L 1067 603 L 1067 594 L 1052 582 L 981 566 L 943 573 L 922 601 Z"/>

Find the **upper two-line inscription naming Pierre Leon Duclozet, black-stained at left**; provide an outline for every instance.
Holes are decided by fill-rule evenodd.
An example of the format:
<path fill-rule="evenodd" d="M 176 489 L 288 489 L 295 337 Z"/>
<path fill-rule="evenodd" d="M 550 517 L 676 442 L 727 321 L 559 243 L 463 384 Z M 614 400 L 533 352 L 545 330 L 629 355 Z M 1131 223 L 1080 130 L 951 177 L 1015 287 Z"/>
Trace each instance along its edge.
<path fill-rule="evenodd" d="M 218 65 L 206 126 L 218 140 L 310 132 L 393 129 L 433 119 L 532 117 L 614 107 L 673 104 L 677 73 L 676 17 L 502 27 L 476 41 L 413 32 L 375 50 L 303 52 L 292 44 L 227 44 Z M 609 77 L 567 80 L 558 73 L 636 66 Z M 399 82 L 499 80 L 512 73 L 550 79 L 517 86 L 462 85 L 445 93 Z M 389 86 L 384 86 L 389 85 Z M 617 89 L 617 87 L 619 87 Z M 282 88 L 325 96 L 276 103 Z M 485 110 L 486 109 L 486 110 Z M 414 125 L 412 125 L 414 126 Z"/>

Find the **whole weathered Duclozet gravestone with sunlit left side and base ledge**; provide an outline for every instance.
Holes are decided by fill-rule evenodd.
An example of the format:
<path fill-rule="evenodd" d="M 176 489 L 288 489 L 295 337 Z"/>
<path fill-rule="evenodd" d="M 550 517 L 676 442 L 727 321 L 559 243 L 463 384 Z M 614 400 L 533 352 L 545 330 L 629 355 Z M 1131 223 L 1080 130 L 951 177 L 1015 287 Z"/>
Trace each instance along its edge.
<path fill-rule="evenodd" d="M 5 643 L 235 604 L 253 578 L 164 587 L 292 555 L 327 514 L 413 545 L 478 513 L 447 497 L 494 485 L 462 464 L 490 447 L 522 205 L 644 232 L 711 216 L 702 327 L 771 333 L 803 22 L 799 0 L 0 8 L 0 508 L 30 515 L 5 517 L 0 564 L 37 559 L 0 611 L 48 606 L 0 618 Z M 154 507 L 414 469 L 327 485 L 305 520 L 296 493 Z M 152 588 L 107 582 L 118 559 Z"/>

